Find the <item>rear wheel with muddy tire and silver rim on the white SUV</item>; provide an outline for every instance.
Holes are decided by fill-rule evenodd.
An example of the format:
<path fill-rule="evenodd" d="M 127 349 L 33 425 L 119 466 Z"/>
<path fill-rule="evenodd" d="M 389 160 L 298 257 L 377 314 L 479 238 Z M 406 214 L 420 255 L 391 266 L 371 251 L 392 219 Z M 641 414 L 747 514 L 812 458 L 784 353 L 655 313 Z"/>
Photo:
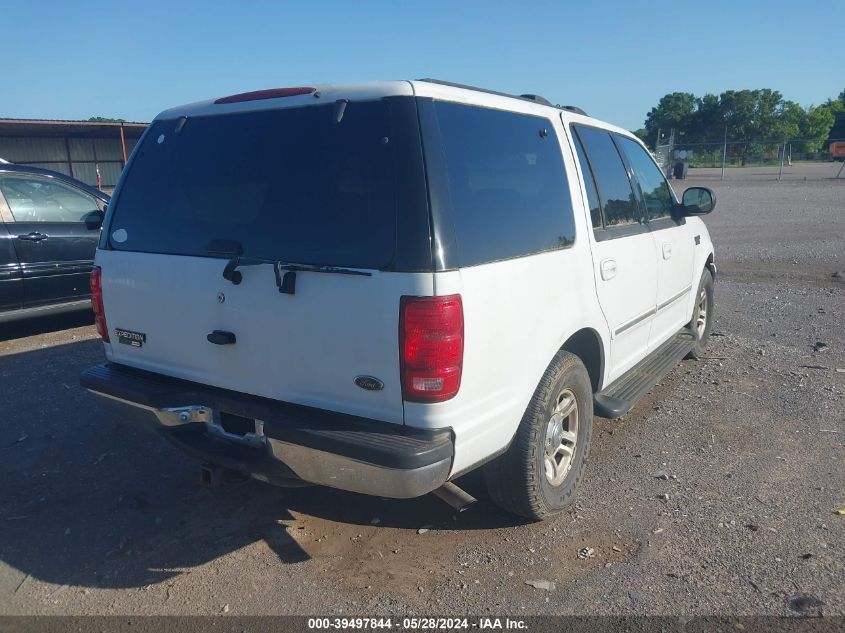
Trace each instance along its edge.
<path fill-rule="evenodd" d="M 569 437 L 572 414 L 566 418 L 559 415 L 559 422 L 565 424 L 552 429 L 556 410 L 575 413 L 574 450 Z M 560 513 L 571 503 L 584 475 L 592 432 L 590 376 L 580 358 L 560 351 L 537 386 L 507 452 L 484 466 L 493 502 L 503 510 L 534 520 Z M 547 442 L 552 452 L 551 446 L 560 442 L 560 452 L 549 457 L 556 467 L 547 462 Z"/>

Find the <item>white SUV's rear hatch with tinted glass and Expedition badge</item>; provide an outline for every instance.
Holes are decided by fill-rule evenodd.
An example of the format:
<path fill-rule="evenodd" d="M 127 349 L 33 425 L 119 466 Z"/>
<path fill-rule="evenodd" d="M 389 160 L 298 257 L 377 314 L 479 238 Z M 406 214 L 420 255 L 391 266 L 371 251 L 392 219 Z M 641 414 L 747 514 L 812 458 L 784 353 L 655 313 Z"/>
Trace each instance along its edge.
<path fill-rule="evenodd" d="M 133 155 L 97 254 L 109 360 L 401 422 L 400 297 L 432 294 L 413 99 L 229 109 Z"/>

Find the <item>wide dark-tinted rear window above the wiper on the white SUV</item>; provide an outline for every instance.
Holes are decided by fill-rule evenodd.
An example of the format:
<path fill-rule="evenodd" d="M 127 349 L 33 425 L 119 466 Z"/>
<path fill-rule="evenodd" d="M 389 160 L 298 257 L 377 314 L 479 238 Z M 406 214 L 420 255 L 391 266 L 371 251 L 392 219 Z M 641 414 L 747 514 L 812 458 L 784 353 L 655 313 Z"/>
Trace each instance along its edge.
<path fill-rule="evenodd" d="M 156 121 L 119 191 L 109 246 L 206 256 L 226 240 L 247 257 L 388 267 L 395 145 L 384 100 Z"/>

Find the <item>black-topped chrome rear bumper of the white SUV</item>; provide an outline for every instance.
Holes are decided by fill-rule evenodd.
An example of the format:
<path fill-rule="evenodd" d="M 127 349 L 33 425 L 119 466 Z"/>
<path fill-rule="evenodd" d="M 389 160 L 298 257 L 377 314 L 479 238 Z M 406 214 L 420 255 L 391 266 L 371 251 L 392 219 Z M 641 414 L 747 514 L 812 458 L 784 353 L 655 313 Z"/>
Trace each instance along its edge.
<path fill-rule="evenodd" d="M 448 429 L 426 431 L 259 398 L 104 363 L 80 382 L 116 419 L 156 429 L 201 461 L 274 484 L 292 480 L 392 498 L 418 497 L 448 478 Z M 254 418 L 234 435 L 220 413 Z"/>

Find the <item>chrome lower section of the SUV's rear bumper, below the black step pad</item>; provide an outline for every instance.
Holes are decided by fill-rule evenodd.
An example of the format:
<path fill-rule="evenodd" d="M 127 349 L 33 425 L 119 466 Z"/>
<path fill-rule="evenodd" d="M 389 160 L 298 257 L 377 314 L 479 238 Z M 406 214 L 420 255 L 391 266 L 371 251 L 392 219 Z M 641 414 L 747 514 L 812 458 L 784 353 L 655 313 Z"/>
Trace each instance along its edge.
<path fill-rule="evenodd" d="M 94 389 L 88 391 L 114 419 L 156 429 L 194 457 L 268 483 L 284 485 L 284 480 L 296 479 L 350 492 L 408 499 L 439 488 L 451 469 L 451 457 L 403 469 L 286 442 L 268 437 L 261 420 L 256 420 L 254 433 L 233 435 L 223 429 L 219 414 L 204 405 L 155 408 Z"/>

